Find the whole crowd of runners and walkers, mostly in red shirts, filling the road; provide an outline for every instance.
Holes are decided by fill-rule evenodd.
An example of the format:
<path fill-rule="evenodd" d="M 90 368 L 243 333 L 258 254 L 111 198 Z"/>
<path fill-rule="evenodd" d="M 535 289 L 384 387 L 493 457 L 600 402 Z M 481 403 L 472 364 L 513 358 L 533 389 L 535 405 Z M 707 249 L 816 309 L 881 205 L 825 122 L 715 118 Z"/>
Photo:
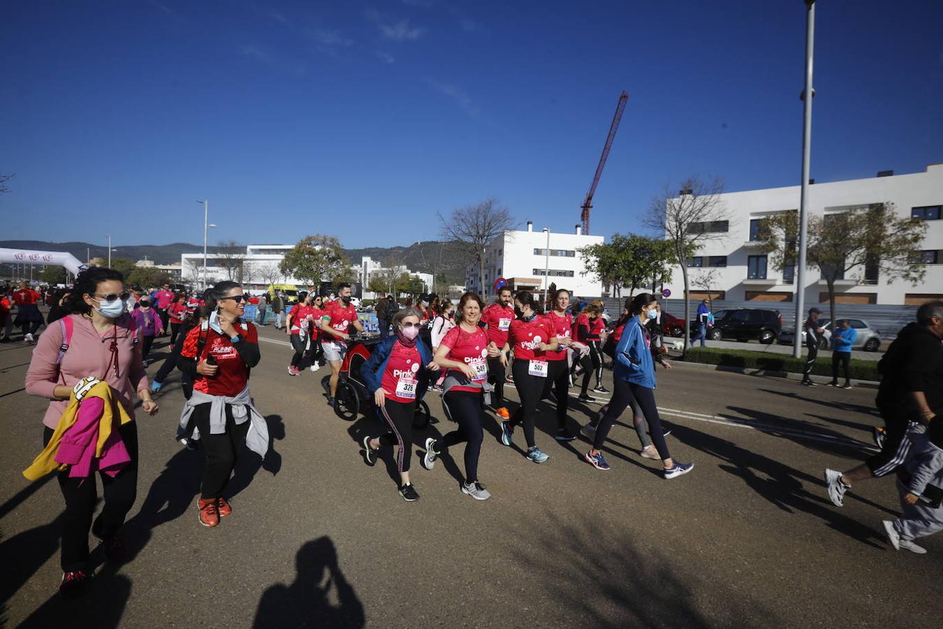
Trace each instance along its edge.
<path fill-rule="evenodd" d="M 555 286 L 546 303 L 529 291 L 509 289 L 500 290 L 489 305 L 472 292 L 457 303 L 422 295 L 403 306 L 388 296 L 375 307 L 379 334 L 368 339 L 351 289 L 340 284 L 330 298 L 301 292 L 290 308 L 283 297 L 273 295 L 270 306 L 278 309 L 276 327 L 284 327 L 290 337 L 291 377 L 328 365 L 327 403 L 338 406 L 341 372 L 354 370 L 347 375 L 362 383 L 370 412 L 382 425 L 362 439 L 361 454 L 373 465 L 380 448 L 395 448 L 397 489 L 405 501 L 420 497 L 410 478 L 411 446 L 417 414 L 430 390 L 441 396 L 454 429 L 424 440 L 422 467 L 433 470 L 438 457 L 464 444 L 459 488 L 475 500 L 491 497 L 479 473 L 486 422 L 498 423 L 500 441 L 507 447 L 514 446 L 520 428 L 524 460 L 542 464 L 550 459 L 537 440 L 542 400 L 554 407 L 554 439 L 569 442 L 582 434 L 589 441 L 583 459 L 596 470 L 610 469 L 604 443 L 627 409 L 640 455 L 658 461 L 664 478 L 692 470 L 693 463 L 670 454 L 669 431 L 655 402 L 656 368 L 671 368 L 655 295 L 640 293 L 626 300 L 618 321 L 608 326 L 602 302 L 574 300 L 570 291 Z M 11 292 L 19 306 L 15 324 L 22 327 L 25 342 L 36 343 L 26 391 L 50 400 L 43 418 L 45 447 L 24 473 L 30 479 L 58 475 L 65 500 L 63 595 L 80 594 L 90 582 L 90 531 L 109 560 L 121 560 L 118 532 L 137 486 L 134 398 L 141 400 L 143 412 L 156 414 L 153 394 L 174 368 L 181 372 L 186 398 L 177 439 L 206 454 L 198 521 L 213 527 L 230 515 L 226 485 L 243 446 L 263 457 L 269 447 L 266 422 L 249 390 L 252 369 L 261 359 L 256 324 L 245 320 L 245 307 L 254 301 L 261 312 L 258 321 L 264 323 L 264 302 L 258 304 L 235 282 L 221 282 L 199 295 L 174 292 L 167 285 L 131 291 L 121 273 L 102 268 L 80 273 L 74 287 L 48 298 L 26 285 Z M 41 301 L 58 311 L 50 312 L 37 340 Z M 878 407 L 886 431 L 881 454 L 850 472 L 826 471 L 825 479 L 830 498 L 840 506 L 852 483 L 897 472 L 903 515 L 885 521 L 887 537 L 895 548 L 920 553 L 913 539 L 943 528 L 943 427 L 933 421 L 935 410 L 943 406 L 943 303 L 920 306 L 917 319 L 882 361 L 885 377 Z M 161 335 L 170 337 L 171 351 L 149 381 L 146 357 Z M 365 359 L 356 366 L 345 360 L 360 348 L 367 350 Z M 580 425 L 569 413 L 570 390 L 579 388 L 578 401 L 595 402 L 587 390 L 595 379 L 593 391 L 607 393 L 605 357 L 613 367 L 612 398 L 591 422 Z M 517 389 L 520 399 L 513 411 L 505 399 L 506 386 Z M 105 500 L 93 519 L 96 471 Z"/>

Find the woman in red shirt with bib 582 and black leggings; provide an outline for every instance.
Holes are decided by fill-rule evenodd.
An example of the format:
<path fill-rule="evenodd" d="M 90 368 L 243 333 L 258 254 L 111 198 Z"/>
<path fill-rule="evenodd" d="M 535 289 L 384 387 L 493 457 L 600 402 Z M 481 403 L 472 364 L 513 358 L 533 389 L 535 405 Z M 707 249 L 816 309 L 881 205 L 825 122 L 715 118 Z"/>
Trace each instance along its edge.
<path fill-rule="evenodd" d="M 501 442 L 506 446 L 511 445 L 514 426 L 523 423 L 527 458 L 535 463 L 543 463 L 550 456 L 537 447 L 534 424 L 537 405 L 550 373 L 547 353 L 558 349 L 559 340 L 555 336 L 553 323 L 540 315 L 540 306 L 534 300 L 534 295 L 527 291 L 519 292 L 514 296 L 514 308 L 517 318 L 511 322 L 502 357 L 506 361 L 508 352 L 514 349 L 511 373 L 514 374 L 514 386 L 521 396 L 521 406 L 511 419 L 501 422 Z"/>

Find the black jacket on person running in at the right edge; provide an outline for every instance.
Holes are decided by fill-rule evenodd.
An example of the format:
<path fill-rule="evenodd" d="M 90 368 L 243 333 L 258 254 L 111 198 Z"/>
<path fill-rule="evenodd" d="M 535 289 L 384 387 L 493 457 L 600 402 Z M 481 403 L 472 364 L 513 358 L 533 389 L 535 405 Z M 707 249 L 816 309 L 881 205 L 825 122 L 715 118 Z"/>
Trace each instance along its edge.
<path fill-rule="evenodd" d="M 909 405 L 908 393 L 923 391 L 927 405 L 943 412 L 943 345 L 925 325 L 907 323 L 878 362 L 878 372 L 879 405 Z"/>

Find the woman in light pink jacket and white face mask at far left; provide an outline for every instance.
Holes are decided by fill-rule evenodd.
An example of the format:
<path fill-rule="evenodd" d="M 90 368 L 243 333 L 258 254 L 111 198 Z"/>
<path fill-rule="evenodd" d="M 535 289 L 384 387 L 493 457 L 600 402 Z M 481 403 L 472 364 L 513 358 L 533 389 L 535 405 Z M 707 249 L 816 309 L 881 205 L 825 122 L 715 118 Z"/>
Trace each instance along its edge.
<path fill-rule="evenodd" d="M 40 337 L 26 372 L 25 386 L 27 393 L 51 400 L 42 420 L 43 444 L 52 438 L 74 385 L 87 376 L 107 382 L 132 420 L 135 391 L 143 411 L 148 415 L 157 413 L 157 404 L 147 387 L 134 323 L 124 312 L 125 299 L 127 293 L 121 273 L 100 267 L 83 271 L 75 278 L 70 294 L 72 314 L 65 318 L 69 322 L 51 325 Z M 60 354 L 65 340 L 62 330 L 68 330 L 69 325 L 72 327 L 69 346 Z M 118 434 L 131 460 L 113 476 L 105 472 L 99 474 L 105 504 L 94 521 L 97 502 L 94 475 L 76 477 L 69 471 L 58 472 L 59 488 L 65 498 L 60 547 L 63 576 L 59 589 L 66 597 L 81 594 L 90 583 L 90 529 L 102 540 L 106 560 L 121 561 L 124 553 L 118 533 L 137 492 L 137 423 L 122 424 Z"/>

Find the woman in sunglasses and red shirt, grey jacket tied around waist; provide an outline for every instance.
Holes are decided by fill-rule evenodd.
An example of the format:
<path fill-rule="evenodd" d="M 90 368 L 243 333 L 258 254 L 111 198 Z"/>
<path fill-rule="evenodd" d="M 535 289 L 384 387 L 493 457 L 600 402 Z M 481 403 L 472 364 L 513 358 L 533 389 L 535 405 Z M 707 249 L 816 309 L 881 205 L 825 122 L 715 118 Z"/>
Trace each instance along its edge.
<path fill-rule="evenodd" d="M 258 364 L 258 335 L 253 323 L 242 323 L 245 295 L 236 282 L 207 290 L 209 319 L 187 333 L 177 369 L 190 374 L 193 394 L 180 413 L 180 428 L 196 430 L 207 467 L 198 501 L 199 520 L 216 526 L 232 513 L 223 490 L 244 443 L 265 456 L 269 431 L 249 394 L 249 373 Z"/>

